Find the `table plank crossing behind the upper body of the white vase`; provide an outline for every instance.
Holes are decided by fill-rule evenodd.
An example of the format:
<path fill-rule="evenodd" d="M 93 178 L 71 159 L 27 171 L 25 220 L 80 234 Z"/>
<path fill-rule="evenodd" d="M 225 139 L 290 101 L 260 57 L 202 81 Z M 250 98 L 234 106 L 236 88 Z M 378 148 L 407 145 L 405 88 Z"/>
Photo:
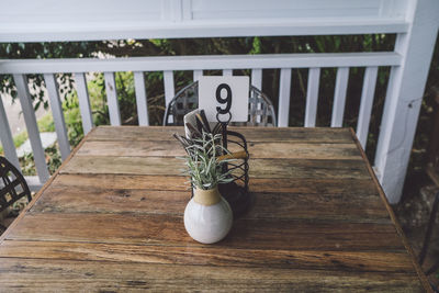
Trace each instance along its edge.
<path fill-rule="evenodd" d="M 32 213 L 119 213 L 182 215 L 191 198 L 189 185 L 181 191 L 106 189 L 101 187 L 49 187 Z M 185 190 L 184 190 L 185 187 Z M 252 189 L 255 190 L 255 189 Z M 350 223 L 390 224 L 376 193 L 262 193 L 251 192 L 254 204 L 243 218 L 327 219 Z M 312 206 L 312 209 L 309 209 Z M 273 213 L 273 211 L 277 211 Z"/>

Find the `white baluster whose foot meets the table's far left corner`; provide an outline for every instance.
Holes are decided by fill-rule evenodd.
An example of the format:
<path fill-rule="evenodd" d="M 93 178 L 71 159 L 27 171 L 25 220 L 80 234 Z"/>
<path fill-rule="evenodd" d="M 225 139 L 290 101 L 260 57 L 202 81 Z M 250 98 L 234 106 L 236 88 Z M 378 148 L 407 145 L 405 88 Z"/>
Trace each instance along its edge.
<path fill-rule="evenodd" d="M 78 93 L 79 110 L 82 117 L 83 133 L 88 134 L 93 127 L 93 116 L 89 101 L 89 91 L 87 89 L 87 79 L 85 74 L 75 74 L 76 91 Z"/>

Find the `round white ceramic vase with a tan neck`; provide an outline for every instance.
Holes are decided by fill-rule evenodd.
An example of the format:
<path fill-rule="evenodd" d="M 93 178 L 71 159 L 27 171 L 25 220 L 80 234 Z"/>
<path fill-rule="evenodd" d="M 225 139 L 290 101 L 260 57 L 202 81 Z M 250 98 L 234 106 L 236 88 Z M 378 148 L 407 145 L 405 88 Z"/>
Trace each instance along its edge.
<path fill-rule="evenodd" d="M 202 244 L 217 243 L 226 237 L 232 223 L 232 209 L 221 196 L 217 187 L 194 190 L 184 210 L 184 227 L 194 240 Z"/>

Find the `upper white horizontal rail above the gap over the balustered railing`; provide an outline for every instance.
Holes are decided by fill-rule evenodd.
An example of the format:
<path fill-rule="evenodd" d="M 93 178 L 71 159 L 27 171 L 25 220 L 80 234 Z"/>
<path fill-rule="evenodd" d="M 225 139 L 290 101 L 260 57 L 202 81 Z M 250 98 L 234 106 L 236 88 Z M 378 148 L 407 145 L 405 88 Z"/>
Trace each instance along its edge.
<path fill-rule="evenodd" d="M 7 42 L 72 42 L 124 38 L 188 38 L 188 37 L 243 37 L 284 35 L 341 35 L 404 33 L 409 23 L 394 18 L 351 19 L 257 19 L 255 20 L 204 20 L 188 22 L 103 22 L 63 23 L 74 29 L 57 30 L 54 23 L 15 23 L 0 27 L 0 43 Z M 90 30 L 90 26 L 93 30 Z"/>

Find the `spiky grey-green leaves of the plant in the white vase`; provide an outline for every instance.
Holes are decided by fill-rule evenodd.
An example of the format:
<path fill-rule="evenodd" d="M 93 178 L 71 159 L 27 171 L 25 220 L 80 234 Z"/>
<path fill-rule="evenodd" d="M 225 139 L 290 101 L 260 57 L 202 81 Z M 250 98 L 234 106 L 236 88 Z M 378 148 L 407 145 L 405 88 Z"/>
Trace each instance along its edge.
<path fill-rule="evenodd" d="M 187 173 L 198 189 L 210 190 L 218 183 L 233 181 L 230 171 L 223 172 L 223 166 L 230 160 L 217 160 L 218 154 L 229 154 L 221 145 L 221 134 L 213 135 L 203 132 L 202 139 L 192 139 L 193 145 L 185 148 L 188 156 Z"/>

